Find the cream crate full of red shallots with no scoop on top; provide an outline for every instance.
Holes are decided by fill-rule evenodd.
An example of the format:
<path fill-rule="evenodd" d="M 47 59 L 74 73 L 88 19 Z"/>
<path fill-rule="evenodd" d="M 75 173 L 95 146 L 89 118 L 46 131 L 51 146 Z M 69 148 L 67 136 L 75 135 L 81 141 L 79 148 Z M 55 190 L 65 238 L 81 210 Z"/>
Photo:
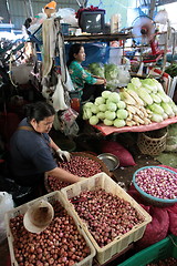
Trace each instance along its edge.
<path fill-rule="evenodd" d="M 102 265 L 142 238 L 150 215 L 105 173 L 61 190 Z"/>

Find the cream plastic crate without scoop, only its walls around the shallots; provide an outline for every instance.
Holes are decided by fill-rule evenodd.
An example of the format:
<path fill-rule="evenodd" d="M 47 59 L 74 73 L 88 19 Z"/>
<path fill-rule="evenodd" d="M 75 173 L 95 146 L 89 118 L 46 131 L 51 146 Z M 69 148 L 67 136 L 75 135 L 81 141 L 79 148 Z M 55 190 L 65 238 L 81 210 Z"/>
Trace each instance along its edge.
<path fill-rule="evenodd" d="M 82 191 L 94 191 L 95 188 L 104 188 L 106 192 L 111 192 L 113 195 L 118 195 L 119 198 L 124 198 L 125 201 L 129 202 L 131 205 L 144 217 L 144 222 L 142 224 L 134 226 L 126 234 L 117 236 L 113 242 L 102 248 L 97 245 L 96 241 L 88 232 L 86 224 L 79 217 L 73 204 L 71 204 L 71 202 L 69 201 L 70 198 L 80 195 Z M 117 185 L 105 173 L 96 174 L 87 180 L 70 185 L 65 188 L 62 188 L 61 192 L 63 193 L 65 201 L 71 205 L 73 213 L 79 218 L 87 236 L 93 243 L 93 246 L 96 249 L 96 259 L 101 265 L 110 260 L 114 255 L 124 250 L 126 247 L 128 247 L 131 243 L 142 238 L 146 225 L 152 221 L 150 215 L 146 213 L 145 209 L 135 202 L 135 200 L 133 200 L 119 185 Z"/>

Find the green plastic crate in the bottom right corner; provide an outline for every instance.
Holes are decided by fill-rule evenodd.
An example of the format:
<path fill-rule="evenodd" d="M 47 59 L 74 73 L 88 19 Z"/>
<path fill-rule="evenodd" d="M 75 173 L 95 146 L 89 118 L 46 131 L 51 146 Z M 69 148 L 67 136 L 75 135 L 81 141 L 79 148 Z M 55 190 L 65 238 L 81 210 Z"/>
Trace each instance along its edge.
<path fill-rule="evenodd" d="M 177 258 L 177 236 L 169 235 L 165 239 L 143 249 L 117 266 L 146 266 L 168 257 Z"/>

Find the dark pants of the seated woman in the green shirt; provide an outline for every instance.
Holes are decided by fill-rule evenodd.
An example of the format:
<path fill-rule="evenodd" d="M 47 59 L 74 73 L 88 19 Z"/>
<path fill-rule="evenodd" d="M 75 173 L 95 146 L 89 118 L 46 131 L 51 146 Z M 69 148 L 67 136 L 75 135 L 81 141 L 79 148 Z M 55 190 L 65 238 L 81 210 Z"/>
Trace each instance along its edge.
<path fill-rule="evenodd" d="M 104 85 L 91 85 L 85 84 L 83 89 L 82 102 L 90 100 L 93 96 L 93 100 L 102 95 L 102 92 L 105 91 Z"/>

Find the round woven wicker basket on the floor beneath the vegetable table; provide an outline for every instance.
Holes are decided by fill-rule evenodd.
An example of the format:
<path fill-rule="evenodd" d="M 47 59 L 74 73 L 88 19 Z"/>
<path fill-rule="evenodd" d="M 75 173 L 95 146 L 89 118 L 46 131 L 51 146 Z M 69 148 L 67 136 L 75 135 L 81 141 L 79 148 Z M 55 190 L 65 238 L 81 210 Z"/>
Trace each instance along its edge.
<path fill-rule="evenodd" d="M 166 149 L 167 131 L 158 137 L 157 132 L 138 133 L 137 146 L 143 154 L 158 155 Z"/>

